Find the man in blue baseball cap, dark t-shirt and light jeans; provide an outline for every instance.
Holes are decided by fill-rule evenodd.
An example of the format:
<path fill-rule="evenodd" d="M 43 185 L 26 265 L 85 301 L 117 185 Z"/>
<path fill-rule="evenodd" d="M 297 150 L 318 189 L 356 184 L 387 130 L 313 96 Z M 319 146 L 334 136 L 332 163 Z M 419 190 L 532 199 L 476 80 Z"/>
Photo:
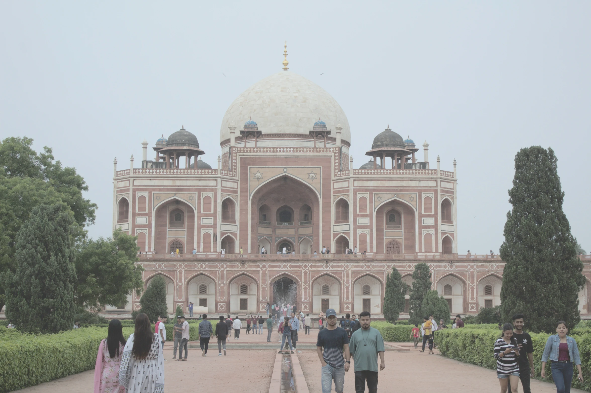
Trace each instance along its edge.
<path fill-rule="evenodd" d="M 349 354 L 349 336 L 342 327 L 336 326 L 336 311 L 326 310 L 326 326 L 318 333 L 316 352 L 322 363 L 322 393 L 330 393 L 332 381 L 335 381 L 335 392 L 343 393 L 345 371 L 349 371 L 350 361 L 345 362 Z M 322 349 L 324 348 L 324 352 Z"/>

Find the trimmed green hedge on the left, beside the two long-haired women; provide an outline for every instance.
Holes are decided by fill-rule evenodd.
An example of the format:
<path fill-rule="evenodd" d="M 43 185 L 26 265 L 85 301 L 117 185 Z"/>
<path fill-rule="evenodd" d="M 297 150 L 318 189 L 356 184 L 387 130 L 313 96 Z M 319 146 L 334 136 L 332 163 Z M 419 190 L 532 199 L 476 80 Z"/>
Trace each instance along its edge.
<path fill-rule="evenodd" d="M 134 332 L 124 327 L 127 338 Z M 0 392 L 9 392 L 95 368 L 105 327 L 53 335 L 26 335 L 0 327 Z"/>

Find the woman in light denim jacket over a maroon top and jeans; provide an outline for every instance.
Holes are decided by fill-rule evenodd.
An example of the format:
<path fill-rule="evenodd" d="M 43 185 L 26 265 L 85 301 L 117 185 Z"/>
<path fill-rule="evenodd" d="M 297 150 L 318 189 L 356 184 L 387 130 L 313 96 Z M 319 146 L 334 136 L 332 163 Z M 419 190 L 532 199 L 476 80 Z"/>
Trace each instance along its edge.
<path fill-rule="evenodd" d="M 581 359 L 577 342 L 566 335 L 569 329 L 563 320 L 556 324 L 556 335 L 548 337 L 544 354 L 542 355 L 542 378 L 545 378 L 545 367 L 550 358 L 552 379 L 556 385 L 557 393 L 570 393 L 570 384 L 573 382 L 573 362 L 579 371 L 578 379 L 583 382 L 583 372 L 581 371 Z"/>

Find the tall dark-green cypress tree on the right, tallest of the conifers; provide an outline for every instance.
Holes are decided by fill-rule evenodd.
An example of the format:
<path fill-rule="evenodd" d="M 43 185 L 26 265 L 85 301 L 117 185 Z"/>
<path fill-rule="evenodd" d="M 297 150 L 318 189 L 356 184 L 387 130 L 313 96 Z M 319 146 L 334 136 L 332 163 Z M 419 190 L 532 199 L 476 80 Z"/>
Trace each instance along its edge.
<path fill-rule="evenodd" d="M 506 262 L 501 289 L 502 320 L 523 313 L 528 329 L 554 332 L 564 320 L 579 322 L 578 293 L 583 263 L 562 210 L 564 192 L 551 148 L 531 146 L 515 155 L 501 258 Z"/>

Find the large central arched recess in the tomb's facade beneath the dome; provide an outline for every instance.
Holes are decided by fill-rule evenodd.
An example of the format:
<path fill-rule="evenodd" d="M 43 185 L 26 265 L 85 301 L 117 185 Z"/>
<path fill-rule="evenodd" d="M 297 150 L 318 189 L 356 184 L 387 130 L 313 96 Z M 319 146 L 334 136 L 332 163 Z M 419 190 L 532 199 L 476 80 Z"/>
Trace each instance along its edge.
<path fill-rule="evenodd" d="M 296 254 L 321 248 L 319 196 L 292 175 L 283 174 L 258 186 L 251 196 L 250 214 L 252 251 L 260 252 L 266 240 L 271 245 L 270 249 L 265 246 L 269 254 L 282 252 L 283 247 Z M 301 245 L 303 238 L 309 240 Z"/>

